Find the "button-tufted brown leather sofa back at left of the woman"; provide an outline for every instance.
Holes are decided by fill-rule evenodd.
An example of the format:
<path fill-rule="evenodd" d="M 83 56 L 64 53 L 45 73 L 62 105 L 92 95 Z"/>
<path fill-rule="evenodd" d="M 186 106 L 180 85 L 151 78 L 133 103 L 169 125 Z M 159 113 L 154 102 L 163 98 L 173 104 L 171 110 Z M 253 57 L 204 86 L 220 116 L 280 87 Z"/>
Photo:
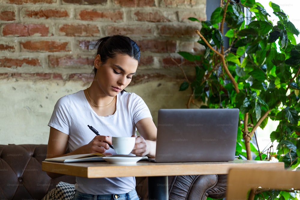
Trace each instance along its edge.
<path fill-rule="evenodd" d="M 51 179 L 42 171 L 47 145 L 0 145 L 0 199 L 42 199 L 59 181 L 75 184 L 75 177 Z"/>

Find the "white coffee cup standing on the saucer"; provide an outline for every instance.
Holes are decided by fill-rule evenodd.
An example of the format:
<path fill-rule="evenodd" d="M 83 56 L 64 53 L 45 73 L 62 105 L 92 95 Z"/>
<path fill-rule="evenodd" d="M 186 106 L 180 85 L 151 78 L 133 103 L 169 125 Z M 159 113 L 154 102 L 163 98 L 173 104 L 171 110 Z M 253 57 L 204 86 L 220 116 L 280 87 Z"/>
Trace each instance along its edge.
<path fill-rule="evenodd" d="M 112 142 L 117 154 L 128 155 L 134 148 L 135 137 L 112 137 Z"/>

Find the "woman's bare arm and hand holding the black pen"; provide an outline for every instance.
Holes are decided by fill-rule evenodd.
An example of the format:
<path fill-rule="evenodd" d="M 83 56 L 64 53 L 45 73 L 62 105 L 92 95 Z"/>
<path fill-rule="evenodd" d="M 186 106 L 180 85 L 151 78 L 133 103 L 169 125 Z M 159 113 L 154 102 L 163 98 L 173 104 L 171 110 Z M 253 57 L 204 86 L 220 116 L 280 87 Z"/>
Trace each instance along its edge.
<path fill-rule="evenodd" d="M 95 136 L 95 138 L 87 145 L 83 145 L 82 147 L 79 147 L 78 149 L 66 154 L 68 139 L 69 139 L 69 135 L 53 127 L 50 127 L 46 158 L 55 158 L 55 157 L 69 156 L 75 154 L 104 153 L 106 149 L 110 148 L 106 142 L 112 144 L 110 136 Z M 59 176 L 62 176 L 61 174 L 57 174 L 53 172 L 47 172 L 47 174 L 51 178 L 57 178 Z"/>

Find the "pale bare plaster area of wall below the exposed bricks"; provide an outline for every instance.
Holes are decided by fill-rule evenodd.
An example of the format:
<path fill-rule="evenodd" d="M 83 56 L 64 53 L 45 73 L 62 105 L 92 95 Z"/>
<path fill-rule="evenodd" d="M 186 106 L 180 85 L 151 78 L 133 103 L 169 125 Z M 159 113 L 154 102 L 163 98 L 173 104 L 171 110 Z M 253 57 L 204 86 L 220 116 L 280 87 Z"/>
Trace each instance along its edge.
<path fill-rule="evenodd" d="M 63 80 L 43 81 L 0 79 L 0 144 L 47 144 L 47 126 L 56 101 L 87 88 L 90 83 Z M 161 108 L 185 108 L 188 95 L 178 91 L 180 82 L 151 81 L 128 86 L 126 91 L 140 95 L 157 125 Z"/>

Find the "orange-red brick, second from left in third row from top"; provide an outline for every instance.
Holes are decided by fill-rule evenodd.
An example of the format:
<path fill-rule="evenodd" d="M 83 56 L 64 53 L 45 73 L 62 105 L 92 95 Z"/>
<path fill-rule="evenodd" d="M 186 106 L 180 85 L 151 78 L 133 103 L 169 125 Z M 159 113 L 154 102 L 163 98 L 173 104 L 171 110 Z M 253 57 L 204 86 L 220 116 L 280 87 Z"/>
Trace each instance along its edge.
<path fill-rule="evenodd" d="M 99 36 L 100 31 L 96 25 L 65 24 L 59 27 L 60 35 L 75 36 Z"/>

